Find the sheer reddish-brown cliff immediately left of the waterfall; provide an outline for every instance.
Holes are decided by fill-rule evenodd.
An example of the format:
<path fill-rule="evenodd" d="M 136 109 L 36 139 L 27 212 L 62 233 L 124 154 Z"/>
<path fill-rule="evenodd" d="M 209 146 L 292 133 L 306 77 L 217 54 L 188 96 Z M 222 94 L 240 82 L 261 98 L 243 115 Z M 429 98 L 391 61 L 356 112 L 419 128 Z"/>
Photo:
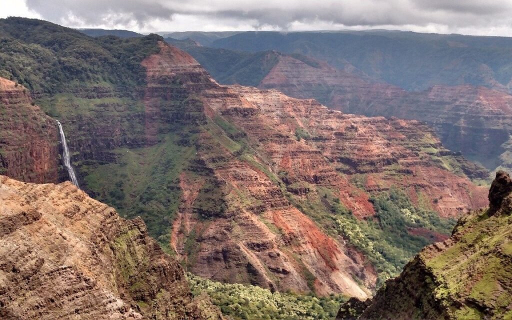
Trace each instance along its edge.
<path fill-rule="evenodd" d="M 23 86 L 0 78 L 0 174 L 27 182 L 57 182 L 59 138 Z"/>

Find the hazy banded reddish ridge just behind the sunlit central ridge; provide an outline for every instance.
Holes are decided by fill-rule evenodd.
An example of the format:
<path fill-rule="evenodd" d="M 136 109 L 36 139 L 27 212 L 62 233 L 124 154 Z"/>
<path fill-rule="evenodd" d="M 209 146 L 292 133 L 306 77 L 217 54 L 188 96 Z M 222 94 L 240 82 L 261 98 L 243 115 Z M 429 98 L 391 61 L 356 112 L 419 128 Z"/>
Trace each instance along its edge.
<path fill-rule="evenodd" d="M 286 55 L 279 56 L 258 87 L 315 98 L 345 113 L 427 121 L 446 147 L 489 169 L 510 162 L 503 145 L 512 124 L 512 96 L 506 92 L 471 85 L 408 92 L 371 80 L 350 65 L 343 70 L 324 62 L 311 66 Z"/>

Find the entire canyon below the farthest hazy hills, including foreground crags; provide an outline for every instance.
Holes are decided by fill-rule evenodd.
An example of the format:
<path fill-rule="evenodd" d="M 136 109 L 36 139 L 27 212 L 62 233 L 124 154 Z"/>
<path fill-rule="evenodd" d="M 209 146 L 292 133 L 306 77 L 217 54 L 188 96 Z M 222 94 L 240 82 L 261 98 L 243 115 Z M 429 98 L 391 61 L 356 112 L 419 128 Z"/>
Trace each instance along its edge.
<path fill-rule="evenodd" d="M 0 19 L 0 316 L 510 316 L 499 77 L 401 88 L 242 35 Z"/>

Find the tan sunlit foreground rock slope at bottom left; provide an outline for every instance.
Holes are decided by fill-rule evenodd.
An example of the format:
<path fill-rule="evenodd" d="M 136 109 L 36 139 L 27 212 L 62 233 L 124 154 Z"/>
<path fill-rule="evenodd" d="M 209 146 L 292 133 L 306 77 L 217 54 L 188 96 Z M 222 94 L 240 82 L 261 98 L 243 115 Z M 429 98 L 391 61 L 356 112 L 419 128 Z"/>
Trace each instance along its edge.
<path fill-rule="evenodd" d="M 140 219 L 120 218 L 69 182 L 0 176 L 0 200 L 3 319 L 221 318 L 198 307 Z"/>

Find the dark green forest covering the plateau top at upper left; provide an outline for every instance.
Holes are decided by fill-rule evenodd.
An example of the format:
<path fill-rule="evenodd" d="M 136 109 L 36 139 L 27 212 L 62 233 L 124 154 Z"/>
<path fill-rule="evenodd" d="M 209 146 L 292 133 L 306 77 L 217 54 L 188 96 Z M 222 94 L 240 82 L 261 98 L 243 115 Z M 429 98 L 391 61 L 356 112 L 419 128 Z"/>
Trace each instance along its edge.
<path fill-rule="evenodd" d="M 134 88 L 144 83 L 140 62 L 158 52 L 158 40 L 91 38 L 37 19 L 0 19 L 0 76 L 44 94 L 101 85 Z"/>

